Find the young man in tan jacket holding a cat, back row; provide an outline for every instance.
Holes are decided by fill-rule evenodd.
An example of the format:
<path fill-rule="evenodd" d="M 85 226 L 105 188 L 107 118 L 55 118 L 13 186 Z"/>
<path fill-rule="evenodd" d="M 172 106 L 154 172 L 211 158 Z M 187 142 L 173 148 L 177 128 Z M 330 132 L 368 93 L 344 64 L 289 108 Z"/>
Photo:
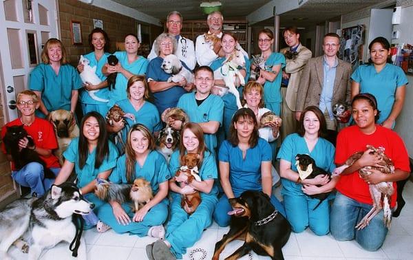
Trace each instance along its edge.
<path fill-rule="evenodd" d="M 294 133 L 297 128 L 297 120 L 295 120 L 297 90 L 301 72 L 311 58 L 312 53 L 299 42 L 297 27 L 290 26 L 284 29 L 282 35 L 288 45 L 280 51 L 286 57 L 286 67 L 282 71 L 283 79 L 281 83 L 283 96 L 281 138 L 284 140 L 290 133 Z"/>

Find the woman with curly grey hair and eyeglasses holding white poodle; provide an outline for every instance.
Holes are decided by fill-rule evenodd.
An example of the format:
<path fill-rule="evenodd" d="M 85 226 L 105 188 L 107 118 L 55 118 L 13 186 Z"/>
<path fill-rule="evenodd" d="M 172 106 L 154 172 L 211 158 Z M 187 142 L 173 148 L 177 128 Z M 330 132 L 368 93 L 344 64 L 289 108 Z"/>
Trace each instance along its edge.
<path fill-rule="evenodd" d="M 156 38 L 155 42 L 155 52 L 158 54 L 158 57 L 153 58 L 149 63 L 147 78 L 149 89 L 151 89 L 155 98 L 155 105 L 158 108 L 159 114 L 162 114 L 165 109 L 176 107 L 180 96 L 190 91 L 191 86 L 187 85 L 187 80 L 185 79 L 178 83 L 169 83 L 167 80 L 171 74 L 161 69 L 164 58 L 169 54 L 175 53 L 177 45 L 175 36 L 163 33 Z M 189 69 L 185 63 L 182 62 L 182 65 Z"/>

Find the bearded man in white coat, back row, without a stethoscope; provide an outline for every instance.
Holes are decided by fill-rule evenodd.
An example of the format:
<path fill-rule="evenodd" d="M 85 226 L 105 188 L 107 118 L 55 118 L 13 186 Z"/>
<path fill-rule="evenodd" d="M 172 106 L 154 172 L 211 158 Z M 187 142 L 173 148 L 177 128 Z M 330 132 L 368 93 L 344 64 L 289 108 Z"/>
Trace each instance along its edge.
<path fill-rule="evenodd" d="M 216 58 L 225 56 L 221 48 L 221 41 L 214 41 L 215 39 L 221 39 L 222 37 L 222 23 L 224 22 L 224 17 L 221 12 L 215 11 L 208 14 L 207 24 L 209 31 L 207 34 L 201 34 L 197 37 L 195 43 L 195 54 L 196 61 L 200 66 L 209 66 Z M 205 37 L 211 39 L 209 41 L 205 40 Z M 237 50 L 240 50 L 244 56 L 248 54 L 238 45 Z"/>

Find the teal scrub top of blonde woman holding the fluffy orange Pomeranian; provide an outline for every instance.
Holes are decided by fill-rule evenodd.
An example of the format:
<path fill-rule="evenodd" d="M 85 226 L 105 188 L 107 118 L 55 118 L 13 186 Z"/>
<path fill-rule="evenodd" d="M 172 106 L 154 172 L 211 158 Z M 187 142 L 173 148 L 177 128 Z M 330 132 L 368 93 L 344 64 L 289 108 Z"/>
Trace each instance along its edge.
<path fill-rule="evenodd" d="M 167 161 L 163 155 L 153 150 L 148 153 L 145 163 L 142 166 L 140 166 L 138 162 L 135 162 L 135 179 L 136 178 L 144 178 L 148 182 L 151 182 L 153 194 L 158 193 L 159 184 L 171 179 Z M 118 158 L 116 169 L 114 169 L 112 175 L 110 175 L 109 180 L 114 183 L 128 183 L 125 154 Z"/>

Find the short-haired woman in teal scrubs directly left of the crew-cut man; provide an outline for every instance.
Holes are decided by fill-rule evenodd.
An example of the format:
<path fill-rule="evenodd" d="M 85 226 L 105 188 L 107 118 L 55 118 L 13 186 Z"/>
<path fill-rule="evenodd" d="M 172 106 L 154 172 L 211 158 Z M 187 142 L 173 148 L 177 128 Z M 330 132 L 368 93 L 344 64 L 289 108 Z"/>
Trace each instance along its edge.
<path fill-rule="evenodd" d="M 158 109 L 147 101 L 149 88 L 145 76 L 131 76 L 127 82 L 126 92 L 127 98 L 116 102 L 116 105 L 127 113 L 125 116 L 126 124 L 122 120 L 114 122 L 113 127 L 108 126 L 109 132 L 118 133 L 118 131 L 122 131 L 122 140 L 125 144 L 127 132 L 131 126 L 140 123 L 145 125 L 154 136 L 158 136 L 158 132 L 162 129 L 162 123 L 160 122 Z M 123 153 L 123 149 L 120 146 L 118 148 Z"/>

